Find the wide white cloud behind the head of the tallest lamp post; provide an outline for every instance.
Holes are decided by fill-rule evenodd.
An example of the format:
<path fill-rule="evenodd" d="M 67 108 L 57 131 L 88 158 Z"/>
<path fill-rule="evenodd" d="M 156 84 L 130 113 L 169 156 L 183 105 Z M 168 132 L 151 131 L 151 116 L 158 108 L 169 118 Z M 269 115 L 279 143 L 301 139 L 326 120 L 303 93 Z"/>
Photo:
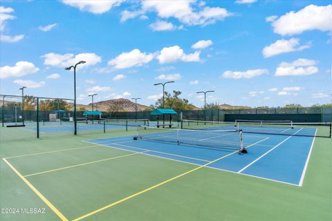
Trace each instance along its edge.
<path fill-rule="evenodd" d="M 42 58 L 44 59 L 45 65 L 62 68 L 73 66 L 78 61 L 86 61 L 86 63 L 78 65 L 77 68 L 93 66 L 102 61 L 102 57 L 95 55 L 95 53 L 82 53 L 75 55 L 75 57 L 73 54 L 59 55 L 55 53 L 48 53 L 46 55 L 43 55 Z"/>

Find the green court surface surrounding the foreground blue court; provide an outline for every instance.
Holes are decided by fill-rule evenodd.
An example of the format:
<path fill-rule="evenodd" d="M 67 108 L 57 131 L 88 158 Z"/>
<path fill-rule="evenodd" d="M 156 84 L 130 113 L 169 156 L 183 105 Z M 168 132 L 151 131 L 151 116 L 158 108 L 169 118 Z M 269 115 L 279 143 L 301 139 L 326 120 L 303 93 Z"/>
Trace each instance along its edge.
<path fill-rule="evenodd" d="M 114 130 L 1 141 L 0 220 L 332 218 L 330 138 L 315 138 L 303 186 L 293 186 L 83 142 L 130 135 Z"/>

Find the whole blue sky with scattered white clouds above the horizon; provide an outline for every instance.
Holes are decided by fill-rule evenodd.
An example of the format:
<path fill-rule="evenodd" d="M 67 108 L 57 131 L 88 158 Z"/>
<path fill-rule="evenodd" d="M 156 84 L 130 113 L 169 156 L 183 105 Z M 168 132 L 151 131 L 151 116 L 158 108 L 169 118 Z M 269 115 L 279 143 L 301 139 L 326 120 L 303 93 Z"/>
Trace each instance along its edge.
<path fill-rule="evenodd" d="M 330 4 L 329 4 L 330 3 Z M 0 1 L 0 93 L 77 99 L 181 90 L 196 106 L 331 102 L 331 1 Z"/>

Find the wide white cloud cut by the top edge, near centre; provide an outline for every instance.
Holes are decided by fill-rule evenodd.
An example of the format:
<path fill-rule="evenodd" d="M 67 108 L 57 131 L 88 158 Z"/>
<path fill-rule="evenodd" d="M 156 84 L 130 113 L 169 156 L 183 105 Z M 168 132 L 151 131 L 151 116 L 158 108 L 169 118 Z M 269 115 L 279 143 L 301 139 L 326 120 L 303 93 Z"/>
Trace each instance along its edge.
<path fill-rule="evenodd" d="M 216 21 L 222 21 L 225 17 L 232 16 L 225 8 L 205 7 L 201 1 L 141 1 L 142 8 L 136 12 L 122 12 L 121 21 L 132 19 L 146 12 L 156 12 L 161 19 L 178 19 L 181 23 L 189 26 L 208 25 Z"/>

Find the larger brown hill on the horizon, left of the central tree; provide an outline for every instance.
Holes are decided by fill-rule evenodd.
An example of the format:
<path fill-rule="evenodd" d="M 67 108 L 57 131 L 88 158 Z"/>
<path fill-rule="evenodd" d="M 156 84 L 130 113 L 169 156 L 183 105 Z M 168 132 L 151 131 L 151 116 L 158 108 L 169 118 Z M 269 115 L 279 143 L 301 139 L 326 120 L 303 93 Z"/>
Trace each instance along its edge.
<path fill-rule="evenodd" d="M 92 106 L 91 103 L 88 105 L 77 104 L 77 109 L 85 108 L 86 111 L 91 111 Z M 113 111 L 135 111 L 135 102 L 131 102 L 129 99 L 109 99 L 107 101 L 95 102 L 94 110 L 98 109 L 98 111 L 108 111 L 111 108 Z M 137 104 L 137 111 L 144 111 L 149 106 L 145 106 L 142 104 Z"/>

